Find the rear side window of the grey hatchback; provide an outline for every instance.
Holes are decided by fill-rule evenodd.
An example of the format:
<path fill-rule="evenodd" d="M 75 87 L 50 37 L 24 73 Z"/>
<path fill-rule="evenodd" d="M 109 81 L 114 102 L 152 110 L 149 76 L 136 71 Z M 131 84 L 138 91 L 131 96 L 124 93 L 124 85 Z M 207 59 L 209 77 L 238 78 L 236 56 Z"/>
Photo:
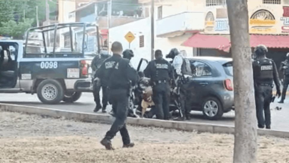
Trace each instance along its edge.
<path fill-rule="evenodd" d="M 201 77 L 201 76 L 212 76 L 212 70 L 209 65 L 200 62 L 200 61 L 190 61 L 192 76 Z"/>

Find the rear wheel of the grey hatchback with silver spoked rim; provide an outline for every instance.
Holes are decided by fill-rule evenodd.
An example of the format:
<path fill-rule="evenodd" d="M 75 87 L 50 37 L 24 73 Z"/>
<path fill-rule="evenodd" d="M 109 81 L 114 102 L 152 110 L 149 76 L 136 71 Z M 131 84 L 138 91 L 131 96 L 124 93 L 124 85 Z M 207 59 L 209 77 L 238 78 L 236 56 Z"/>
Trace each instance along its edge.
<path fill-rule="evenodd" d="M 204 116 L 209 120 L 218 120 L 223 115 L 221 102 L 215 97 L 208 97 L 203 101 L 202 110 Z"/>

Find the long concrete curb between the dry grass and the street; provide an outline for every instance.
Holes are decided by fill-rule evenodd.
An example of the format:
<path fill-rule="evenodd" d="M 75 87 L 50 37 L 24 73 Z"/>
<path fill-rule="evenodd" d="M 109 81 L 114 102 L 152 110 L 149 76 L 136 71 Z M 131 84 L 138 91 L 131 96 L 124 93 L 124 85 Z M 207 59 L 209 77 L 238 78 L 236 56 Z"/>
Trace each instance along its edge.
<path fill-rule="evenodd" d="M 92 114 L 92 113 L 82 113 L 76 111 L 64 111 L 50 108 L 39 108 L 23 105 L 12 105 L 12 104 L 2 104 L 0 103 L 0 110 L 3 111 L 13 111 L 22 112 L 28 114 L 37 114 L 49 117 L 65 117 L 67 119 L 74 119 L 83 122 L 103 122 L 112 123 L 114 117 L 110 115 L 103 114 Z M 153 126 L 168 129 L 177 129 L 185 131 L 200 131 L 200 132 L 210 132 L 210 133 L 228 133 L 233 134 L 235 127 L 225 126 L 225 125 L 215 125 L 207 123 L 193 123 L 193 122 L 178 122 L 178 121 L 167 121 L 167 120 L 156 120 L 156 119 L 145 119 L 145 118 L 127 118 L 127 123 L 130 125 L 140 125 L 140 126 Z M 265 130 L 258 129 L 258 135 L 276 136 L 289 138 L 289 132 L 278 131 L 278 130 Z"/>

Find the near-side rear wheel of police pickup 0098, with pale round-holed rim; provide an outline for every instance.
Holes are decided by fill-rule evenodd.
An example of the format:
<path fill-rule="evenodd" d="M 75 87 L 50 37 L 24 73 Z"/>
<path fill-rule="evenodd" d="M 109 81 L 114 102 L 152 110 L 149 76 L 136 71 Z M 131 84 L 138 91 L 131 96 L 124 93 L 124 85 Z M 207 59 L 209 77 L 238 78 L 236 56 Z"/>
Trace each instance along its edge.
<path fill-rule="evenodd" d="M 37 86 L 37 96 L 44 104 L 57 104 L 64 96 L 63 87 L 57 80 L 46 79 Z"/>

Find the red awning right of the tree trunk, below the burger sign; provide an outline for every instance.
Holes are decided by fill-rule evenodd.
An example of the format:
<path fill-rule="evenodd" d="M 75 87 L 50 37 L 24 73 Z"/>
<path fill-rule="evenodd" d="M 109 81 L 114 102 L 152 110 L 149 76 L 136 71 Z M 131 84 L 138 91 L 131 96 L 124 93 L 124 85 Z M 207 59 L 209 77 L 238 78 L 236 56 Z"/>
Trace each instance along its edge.
<path fill-rule="evenodd" d="M 289 36 L 252 34 L 250 36 L 250 46 L 256 47 L 260 44 L 268 48 L 289 48 Z"/>

